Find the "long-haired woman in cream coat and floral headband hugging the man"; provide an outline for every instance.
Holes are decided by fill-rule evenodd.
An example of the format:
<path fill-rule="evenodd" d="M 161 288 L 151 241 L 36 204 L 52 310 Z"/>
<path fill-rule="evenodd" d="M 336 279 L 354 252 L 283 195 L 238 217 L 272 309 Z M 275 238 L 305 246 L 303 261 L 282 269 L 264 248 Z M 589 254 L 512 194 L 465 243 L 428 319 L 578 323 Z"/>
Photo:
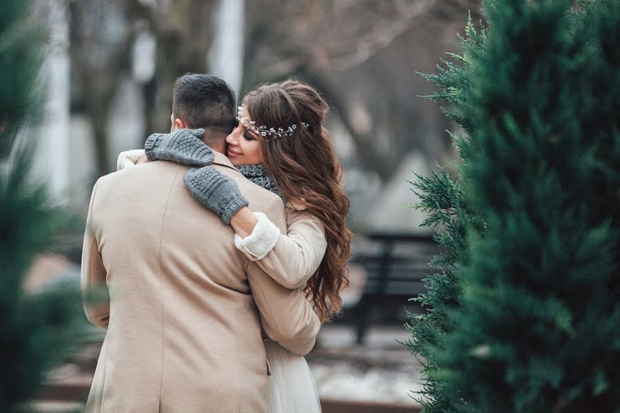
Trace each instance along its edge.
<path fill-rule="evenodd" d="M 305 286 L 321 321 L 340 311 L 340 291 L 347 286 L 346 264 L 351 232 L 345 224 L 349 200 L 342 188 L 342 169 L 323 127 L 329 107 L 309 85 L 296 80 L 263 85 L 243 99 L 238 125 L 227 136 L 227 156 L 243 175 L 286 202 L 288 235 L 262 213 L 247 207 L 223 211 L 242 200 L 236 184 L 223 193 L 209 191 L 214 180 L 226 179 L 205 166 L 185 176 L 189 191 L 205 207 L 231 217 L 235 245 L 286 288 Z M 145 144 L 148 160 L 192 161 L 205 145 L 200 129 L 156 134 Z M 118 167 L 134 165 L 141 151 L 121 153 Z M 138 161 L 140 162 L 140 161 Z M 285 270 L 283 270 L 285 268 Z M 320 412 L 316 385 L 305 359 L 265 341 L 272 413 Z"/>

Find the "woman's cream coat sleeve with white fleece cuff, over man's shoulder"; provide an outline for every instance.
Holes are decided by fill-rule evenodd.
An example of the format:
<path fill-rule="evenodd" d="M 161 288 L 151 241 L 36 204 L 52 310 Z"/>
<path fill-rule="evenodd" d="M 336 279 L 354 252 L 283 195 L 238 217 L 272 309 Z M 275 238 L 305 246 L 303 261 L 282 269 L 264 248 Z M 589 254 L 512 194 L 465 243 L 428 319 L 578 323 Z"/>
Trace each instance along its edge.
<path fill-rule="evenodd" d="M 235 235 L 237 248 L 281 286 L 304 286 L 318 270 L 327 251 L 321 222 L 304 211 L 288 207 L 287 235 L 284 235 L 265 214 L 255 215 L 254 231 L 245 238 Z"/>

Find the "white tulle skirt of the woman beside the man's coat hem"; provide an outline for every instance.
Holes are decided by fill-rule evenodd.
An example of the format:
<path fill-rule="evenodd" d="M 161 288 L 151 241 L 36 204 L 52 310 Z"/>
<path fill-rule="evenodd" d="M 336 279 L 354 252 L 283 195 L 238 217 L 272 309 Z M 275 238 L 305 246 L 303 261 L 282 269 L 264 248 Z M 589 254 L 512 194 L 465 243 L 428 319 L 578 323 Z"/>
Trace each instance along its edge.
<path fill-rule="evenodd" d="M 318 413 L 321 411 L 316 384 L 302 356 L 275 341 L 265 340 L 269 381 L 269 413 Z"/>

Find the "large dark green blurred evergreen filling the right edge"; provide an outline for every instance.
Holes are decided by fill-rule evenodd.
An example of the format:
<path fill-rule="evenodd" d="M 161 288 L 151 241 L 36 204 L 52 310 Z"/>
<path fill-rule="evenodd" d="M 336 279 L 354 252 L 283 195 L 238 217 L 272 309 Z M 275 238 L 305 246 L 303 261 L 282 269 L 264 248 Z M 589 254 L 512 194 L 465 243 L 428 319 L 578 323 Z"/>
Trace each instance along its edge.
<path fill-rule="evenodd" d="M 462 412 L 619 412 L 620 3 L 485 10 L 461 169 L 484 233 L 429 377 Z"/>

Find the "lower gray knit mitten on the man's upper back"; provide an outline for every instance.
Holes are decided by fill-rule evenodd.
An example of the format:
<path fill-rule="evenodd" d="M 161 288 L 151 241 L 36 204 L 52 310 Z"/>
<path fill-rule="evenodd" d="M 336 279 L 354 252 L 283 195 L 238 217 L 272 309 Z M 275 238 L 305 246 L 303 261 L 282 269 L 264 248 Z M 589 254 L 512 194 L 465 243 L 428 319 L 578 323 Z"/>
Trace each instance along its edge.
<path fill-rule="evenodd" d="M 183 180 L 194 198 L 218 214 L 225 224 L 230 223 L 237 211 L 247 207 L 248 202 L 241 195 L 237 182 L 214 167 L 189 169 Z"/>

